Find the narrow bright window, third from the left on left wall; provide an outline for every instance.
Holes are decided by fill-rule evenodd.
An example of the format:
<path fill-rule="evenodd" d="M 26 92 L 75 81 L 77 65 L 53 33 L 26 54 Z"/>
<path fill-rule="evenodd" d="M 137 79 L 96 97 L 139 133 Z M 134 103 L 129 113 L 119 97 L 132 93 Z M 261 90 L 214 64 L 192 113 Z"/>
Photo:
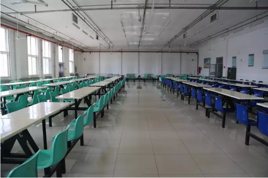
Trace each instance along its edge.
<path fill-rule="evenodd" d="M 51 74 L 51 48 L 50 42 L 42 40 L 43 46 L 43 74 Z"/>

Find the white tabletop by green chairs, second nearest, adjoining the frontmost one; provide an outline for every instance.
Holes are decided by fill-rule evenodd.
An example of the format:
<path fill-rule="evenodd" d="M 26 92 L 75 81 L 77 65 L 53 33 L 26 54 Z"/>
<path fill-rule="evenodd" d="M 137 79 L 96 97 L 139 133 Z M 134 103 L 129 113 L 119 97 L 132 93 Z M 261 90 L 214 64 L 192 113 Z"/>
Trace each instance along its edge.
<path fill-rule="evenodd" d="M 1 119 L 43 120 L 57 113 L 59 110 L 68 107 L 70 104 L 71 103 L 67 102 L 41 102 L 3 115 L 1 116 Z"/>

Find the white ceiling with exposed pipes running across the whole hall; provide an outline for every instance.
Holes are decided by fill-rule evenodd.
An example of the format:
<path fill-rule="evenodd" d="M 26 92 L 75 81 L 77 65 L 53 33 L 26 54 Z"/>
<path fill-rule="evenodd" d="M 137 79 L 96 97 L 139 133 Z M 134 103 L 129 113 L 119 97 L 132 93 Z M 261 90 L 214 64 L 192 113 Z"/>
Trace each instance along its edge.
<path fill-rule="evenodd" d="M 34 11 L 34 5 L 30 3 L 21 3 L 11 5 L 10 3 L 19 0 L 1 0 L 1 12 L 25 12 Z M 36 1 L 36 0 L 35 0 Z M 37 11 L 47 10 L 63 10 L 69 9 L 61 0 L 44 0 L 48 3 L 48 7 L 43 5 L 37 5 Z M 64 0 L 67 2 L 67 0 Z M 85 5 L 101 5 L 111 4 L 111 0 L 68 0 L 73 6 L 75 3 L 79 6 Z M 148 0 L 148 3 L 152 3 L 153 0 Z M 171 0 L 171 3 L 187 4 L 186 6 L 211 6 L 218 0 Z M 116 4 L 144 4 L 145 0 L 116 0 L 113 7 L 124 7 L 125 5 Z M 154 3 L 168 3 L 168 0 L 154 0 Z M 189 5 L 190 4 L 190 5 Z M 207 4 L 207 5 L 192 5 L 192 4 Z M 229 0 L 223 7 L 254 7 L 256 4 L 249 3 L 249 0 Z M 6 7 L 8 8 L 6 8 Z M 133 5 L 136 7 L 137 5 Z M 150 5 L 151 6 L 151 5 Z M 164 5 L 159 5 L 164 6 Z M 259 0 L 258 6 L 268 6 L 268 0 Z M 81 8 L 98 8 L 98 7 L 110 7 L 110 6 L 87 6 Z M 204 9 L 151 9 L 146 10 L 145 18 L 145 30 L 142 38 L 142 47 L 161 48 L 163 47 L 173 36 L 178 34 L 183 28 L 189 25 L 195 18 L 200 16 L 206 10 Z M 243 20 L 266 12 L 267 10 L 218 10 L 219 19 L 218 22 L 211 27 L 210 16 L 204 18 L 187 31 L 188 37 L 186 40 L 187 45 L 190 45 L 200 39 L 215 34 L 221 30 L 229 28 Z M 81 15 L 89 20 L 95 28 L 99 28 L 101 32 L 113 43 L 115 48 L 129 47 L 130 49 L 137 48 L 140 36 L 141 22 L 137 22 L 138 15 L 137 9 L 131 10 L 92 10 L 92 11 L 79 11 Z M 143 16 L 144 10 L 140 10 L 140 15 Z M 15 17 L 14 14 L 9 14 L 11 17 Z M 87 17 L 88 16 L 88 17 Z M 1 18 L 6 18 L 1 14 Z M 78 18 L 78 30 L 72 25 L 72 12 L 49 12 L 49 13 L 36 13 L 27 15 L 18 15 L 19 20 L 36 26 L 39 29 L 45 30 L 48 33 L 54 34 L 58 37 L 62 37 L 67 41 L 72 41 L 75 44 L 82 46 L 83 48 L 97 48 L 101 43 L 101 48 L 104 46 L 108 48 L 108 44 L 100 38 L 100 40 L 92 39 L 89 35 L 95 37 L 96 33 L 85 23 L 82 19 Z M 91 21 L 90 19 L 93 21 Z M 159 36 L 159 32 L 170 19 L 170 24 L 165 28 L 163 33 Z M 10 19 L 9 19 L 10 20 Z M 123 29 L 121 27 L 122 20 L 124 30 L 127 38 L 124 36 Z M 14 19 L 13 19 L 14 21 Z M 16 19 L 15 19 L 16 22 Z M 21 23 L 21 22 L 19 22 Z M 30 26 L 29 25 L 29 26 Z M 200 33 L 197 33 L 200 29 L 204 28 Z M 89 35 L 82 33 L 82 30 Z M 195 34 L 194 36 L 191 36 Z M 191 36 L 191 37 L 190 37 Z M 173 43 L 175 45 L 184 45 L 185 41 L 182 36 L 178 37 Z"/>

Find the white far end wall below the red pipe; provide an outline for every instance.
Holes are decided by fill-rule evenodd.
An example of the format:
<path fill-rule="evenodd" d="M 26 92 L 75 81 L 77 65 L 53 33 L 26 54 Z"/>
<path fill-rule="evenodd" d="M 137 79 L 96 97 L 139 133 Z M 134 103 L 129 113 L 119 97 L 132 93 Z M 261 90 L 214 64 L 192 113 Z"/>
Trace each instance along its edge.
<path fill-rule="evenodd" d="M 195 53 L 82 53 L 77 64 L 79 75 L 84 73 L 180 73 L 180 63 L 184 73 L 196 73 L 197 54 Z M 85 60 L 84 60 L 85 59 Z M 193 59 L 193 61 L 192 61 Z M 79 69 L 79 70 L 78 70 Z"/>

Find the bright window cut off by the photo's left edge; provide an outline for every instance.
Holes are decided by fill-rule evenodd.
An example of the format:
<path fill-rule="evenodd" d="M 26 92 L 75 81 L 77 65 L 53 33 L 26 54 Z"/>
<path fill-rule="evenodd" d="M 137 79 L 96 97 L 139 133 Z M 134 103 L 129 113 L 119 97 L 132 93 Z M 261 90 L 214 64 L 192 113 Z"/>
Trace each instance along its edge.
<path fill-rule="evenodd" d="M 8 29 L 1 27 L 1 77 L 10 77 Z M 3 41 L 4 40 L 4 41 Z"/>

